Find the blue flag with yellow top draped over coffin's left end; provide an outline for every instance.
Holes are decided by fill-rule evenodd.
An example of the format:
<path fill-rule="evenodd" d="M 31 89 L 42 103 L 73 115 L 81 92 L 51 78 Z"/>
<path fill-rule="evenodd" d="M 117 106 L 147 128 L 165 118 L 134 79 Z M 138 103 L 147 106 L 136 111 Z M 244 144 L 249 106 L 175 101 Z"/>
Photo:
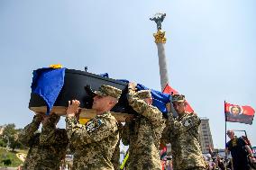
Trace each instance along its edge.
<path fill-rule="evenodd" d="M 64 85 L 65 69 L 61 65 L 51 65 L 33 71 L 32 93 L 38 94 L 45 101 L 47 114 Z"/>

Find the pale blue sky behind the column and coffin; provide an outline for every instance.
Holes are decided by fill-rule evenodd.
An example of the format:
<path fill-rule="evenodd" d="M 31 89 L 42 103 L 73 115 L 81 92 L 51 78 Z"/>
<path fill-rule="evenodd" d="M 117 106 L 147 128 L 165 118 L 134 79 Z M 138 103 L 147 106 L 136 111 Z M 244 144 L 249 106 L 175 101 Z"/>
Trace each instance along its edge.
<path fill-rule="evenodd" d="M 224 148 L 224 100 L 256 108 L 255 7 L 254 0 L 2 0 L 0 125 L 32 120 L 32 70 L 50 64 L 160 90 L 149 18 L 163 12 L 170 85 L 210 120 L 215 147 Z M 246 130 L 256 145 L 255 122 L 227 128 Z"/>

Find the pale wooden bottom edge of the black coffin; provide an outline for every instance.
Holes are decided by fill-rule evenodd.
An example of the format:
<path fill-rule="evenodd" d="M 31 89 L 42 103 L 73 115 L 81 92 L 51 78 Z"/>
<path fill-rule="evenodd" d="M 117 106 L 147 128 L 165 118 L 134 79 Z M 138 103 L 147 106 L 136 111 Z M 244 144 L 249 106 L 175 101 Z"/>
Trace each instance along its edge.
<path fill-rule="evenodd" d="M 41 106 L 41 107 L 30 107 L 30 110 L 32 112 L 46 112 L 46 106 Z M 64 106 L 53 106 L 50 112 L 55 112 L 59 116 L 65 116 L 66 115 L 66 110 L 67 107 Z M 132 117 L 132 114 L 127 114 L 123 112 L 111 112 L 116 121 L 122 121 L 125 122 L 125 119 L 128 117 Z M 92 119 L 96 116 L 96 111 L 93 109 L 85 109 L 81 108 L 81 113 L 80 113 L 80 118 L 85 118 L 85 119 Z"/>

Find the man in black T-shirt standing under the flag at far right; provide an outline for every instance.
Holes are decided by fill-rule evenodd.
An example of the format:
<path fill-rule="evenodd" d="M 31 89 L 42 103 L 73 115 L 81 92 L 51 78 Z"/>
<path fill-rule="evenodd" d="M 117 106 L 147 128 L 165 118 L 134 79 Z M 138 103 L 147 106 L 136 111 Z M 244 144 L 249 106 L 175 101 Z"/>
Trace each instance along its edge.
<path fill-rule="evenodd" d="M 231 139 L 226 143 L 226 149 L 233 157 L 233 170 L 250 170 L 248 155 L 253 157 L 251 148 L 242 138 L 234 136 L 233 130 L 227 130 L 226 134 Z"/>

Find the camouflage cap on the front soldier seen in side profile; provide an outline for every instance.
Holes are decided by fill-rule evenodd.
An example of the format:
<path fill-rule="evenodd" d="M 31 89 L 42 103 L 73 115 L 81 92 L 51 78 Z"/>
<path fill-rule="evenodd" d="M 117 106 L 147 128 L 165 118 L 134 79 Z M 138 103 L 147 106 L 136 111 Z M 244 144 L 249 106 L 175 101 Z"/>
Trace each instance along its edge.
<path fill-rule="evenodd" d="M 109 95 L 118 100 L 122 94 L 122 90 L 111 85 L 101 85 L 99 89 L 97 91 L 94 91 L 93 93 L 96 95 L 102 95 L 102 96 Z"/>

